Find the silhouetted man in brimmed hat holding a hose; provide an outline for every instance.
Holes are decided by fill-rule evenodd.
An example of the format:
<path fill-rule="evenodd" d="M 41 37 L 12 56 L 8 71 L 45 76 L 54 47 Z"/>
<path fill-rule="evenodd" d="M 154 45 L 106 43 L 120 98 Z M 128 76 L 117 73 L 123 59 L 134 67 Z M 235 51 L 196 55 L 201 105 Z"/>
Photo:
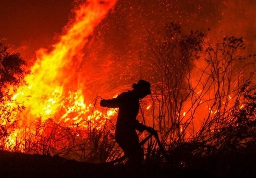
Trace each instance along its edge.
<path fill-rule="evenodd" d="M 140 164 L 143 161 L 143 148 L 139 144 L 136 130 L 140 132 L 153 128 L 147 127 L 136 119 L 140 105 L 139 100 L 151 94 L 150 83 L 139 80 L 133 83 L 133 90 L 121 93 L 113 99 L 102 99 L 100 105 L 108 108 L 119 108 L 116 122 L 116 142 L 123 149 L 131 164 Z"/>

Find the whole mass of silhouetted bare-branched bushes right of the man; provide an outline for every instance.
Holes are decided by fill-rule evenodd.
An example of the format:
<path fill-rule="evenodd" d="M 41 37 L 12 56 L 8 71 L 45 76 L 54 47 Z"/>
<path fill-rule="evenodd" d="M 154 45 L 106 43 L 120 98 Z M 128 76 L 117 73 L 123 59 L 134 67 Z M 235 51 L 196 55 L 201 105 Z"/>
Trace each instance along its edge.
<path fill-rule="evenodd" d="M 149 32 L 148 44 L 154 54 L 153 125 L 172 165 L 217 177 L 251 175 L 256 69 L 243 38 L 213 39 L 198 30 L 186 34 L 171 23 L 160 35 Z M 161 153 L 154 143 L 148 143 L 147 158 L 158 161 Z"/>

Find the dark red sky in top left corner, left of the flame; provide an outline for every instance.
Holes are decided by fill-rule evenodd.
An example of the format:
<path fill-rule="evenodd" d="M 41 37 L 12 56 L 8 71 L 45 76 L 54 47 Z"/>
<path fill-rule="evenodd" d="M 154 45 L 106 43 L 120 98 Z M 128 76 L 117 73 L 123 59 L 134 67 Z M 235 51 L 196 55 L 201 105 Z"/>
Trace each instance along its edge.
<path fill-rule="evenodd" d="M 1 0 L 0 39 L 10 48 L 48 47 L 68 23 L 72 0 Z M 24 50 L 24 49 L 19 49 Z"/>

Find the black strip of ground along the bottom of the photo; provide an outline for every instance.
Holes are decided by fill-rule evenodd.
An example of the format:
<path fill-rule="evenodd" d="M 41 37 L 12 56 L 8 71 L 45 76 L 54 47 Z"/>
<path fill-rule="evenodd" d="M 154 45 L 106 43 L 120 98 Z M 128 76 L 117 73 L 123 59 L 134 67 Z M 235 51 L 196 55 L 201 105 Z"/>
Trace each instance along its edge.
<path fill-rule="evenodd" d="M 228 159 L 227 159 L 228 158 Z M 127 177 L 127 178 L 211 178 L 256 177 L 255 154 L 237 155 L 218 159 L 201 158 L 190 161 L 186 168 L 164 163 L 147 163 L 140 166 L 124 164 L 94 164 L 64 159 L 60 156 L 24 154 L 0 151 L 0 178 L 9 177 Z"/>

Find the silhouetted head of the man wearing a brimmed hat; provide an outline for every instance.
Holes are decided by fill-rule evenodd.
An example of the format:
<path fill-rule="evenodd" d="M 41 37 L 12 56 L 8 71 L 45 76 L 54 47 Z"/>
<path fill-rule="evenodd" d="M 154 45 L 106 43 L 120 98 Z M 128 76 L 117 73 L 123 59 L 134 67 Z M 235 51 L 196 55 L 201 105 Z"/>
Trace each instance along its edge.
<path fill-rule="evenodd" d="M 138 83 L 133 83 L 132 88 L 138 92 L 140 98 L 151 94 L 150 83 L 145 80 L 139 80 Z"/>

